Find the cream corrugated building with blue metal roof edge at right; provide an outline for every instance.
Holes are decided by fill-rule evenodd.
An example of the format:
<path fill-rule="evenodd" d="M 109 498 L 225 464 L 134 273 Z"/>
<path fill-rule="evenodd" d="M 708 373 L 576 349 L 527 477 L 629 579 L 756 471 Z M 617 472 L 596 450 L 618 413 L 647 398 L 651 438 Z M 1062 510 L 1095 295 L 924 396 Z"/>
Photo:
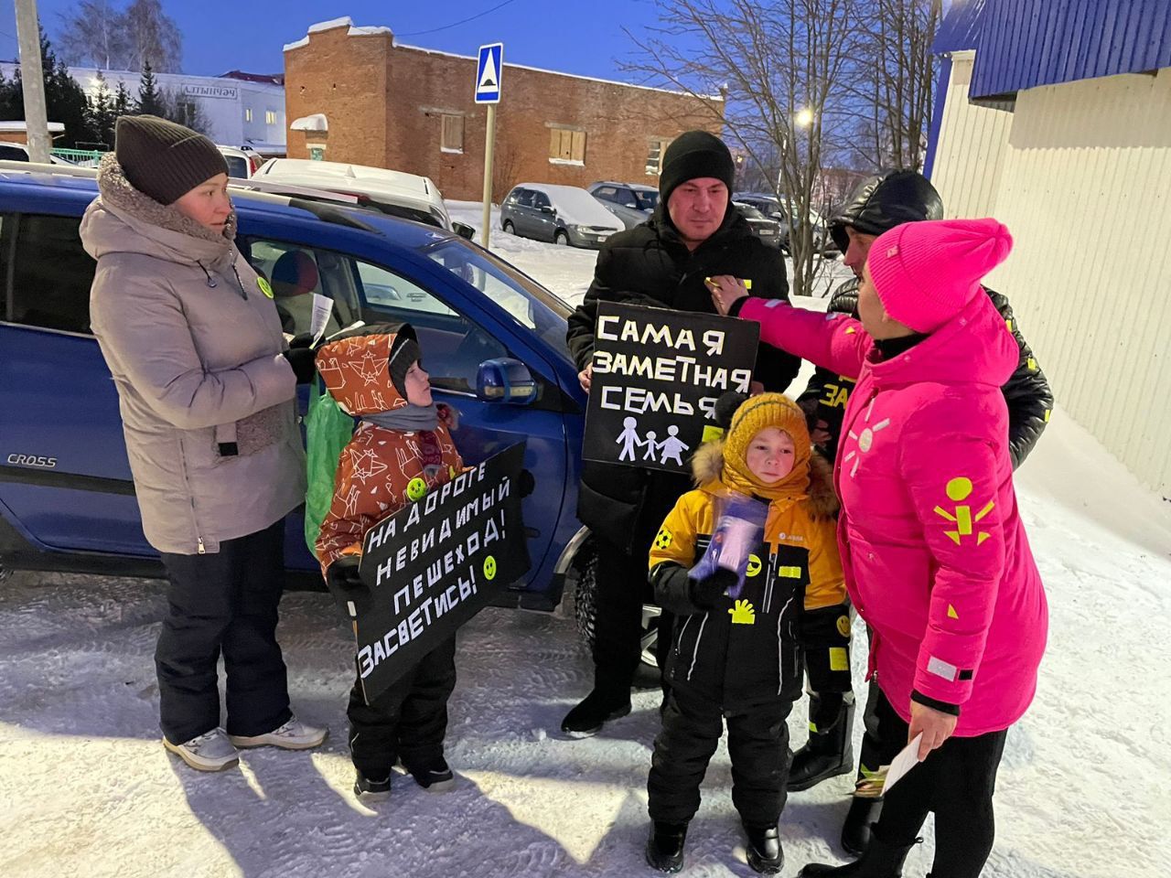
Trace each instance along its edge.
<path fill-rule="evenodd" d="M 1057 405 L 1171 498 L 1171 18 L 1155 0 L 1066 6 L 957 0 L 950 18 L 970 20 L 940 30 L 927 172 L 949 217 L 1012 231 L 988 283 Z"/>

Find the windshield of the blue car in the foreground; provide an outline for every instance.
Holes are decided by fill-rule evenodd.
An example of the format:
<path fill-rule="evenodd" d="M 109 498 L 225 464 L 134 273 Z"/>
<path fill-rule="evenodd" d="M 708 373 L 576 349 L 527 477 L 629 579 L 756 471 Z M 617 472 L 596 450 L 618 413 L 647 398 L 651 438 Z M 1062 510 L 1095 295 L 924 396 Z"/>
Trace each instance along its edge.
<path fill-rule="evenodd" d="M 445 238 L 422 249 L 508 311 L 522 327 L 569 356 L 566 329 L 573 308 L 540 283 L 461 238 Z"/>

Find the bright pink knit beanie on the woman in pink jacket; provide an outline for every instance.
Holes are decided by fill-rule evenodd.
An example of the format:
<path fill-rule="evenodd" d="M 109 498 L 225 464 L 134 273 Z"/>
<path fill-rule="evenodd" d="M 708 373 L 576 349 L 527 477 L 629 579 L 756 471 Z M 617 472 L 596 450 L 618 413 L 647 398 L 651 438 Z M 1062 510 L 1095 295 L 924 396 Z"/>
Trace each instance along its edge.
<path fill-rule="evenodd" d="M 916 332 L 933 332 L 1008 256 L 1013 238 L 994 219 L 905 222 L 870 246 L 867 266 L 886 314 Z"/>

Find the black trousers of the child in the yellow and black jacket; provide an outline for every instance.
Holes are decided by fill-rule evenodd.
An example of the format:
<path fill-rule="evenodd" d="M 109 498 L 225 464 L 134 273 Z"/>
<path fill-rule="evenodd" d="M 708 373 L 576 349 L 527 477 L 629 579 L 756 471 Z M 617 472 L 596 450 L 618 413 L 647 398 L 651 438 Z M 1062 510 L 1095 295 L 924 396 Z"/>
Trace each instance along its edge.
<path fill-rule="evenodd" d="M 699 784 L 728 726 L 732 757 L 732 804 L 748 826 L 775 826 L 785 809 L 789 775 L 792 701 L 773 698 L 724 711 L 687 690 L 671 687 L 663 729 L 655 739 L 646 781 L 648 810 L 656 822 L 687 823 L 699 810 Z"/>

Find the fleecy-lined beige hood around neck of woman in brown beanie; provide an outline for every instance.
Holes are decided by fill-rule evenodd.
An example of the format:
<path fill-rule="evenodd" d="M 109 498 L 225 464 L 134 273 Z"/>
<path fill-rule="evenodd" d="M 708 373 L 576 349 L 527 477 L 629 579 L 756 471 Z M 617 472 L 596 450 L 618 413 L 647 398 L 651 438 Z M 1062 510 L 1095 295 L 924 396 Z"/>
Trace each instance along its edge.
<path fill-rule="evenodd" d="M 98 198 L 85 210 L 81 238 L 94 259 L 109 253 L 142 253 L 186 265 L 219 267 L 234 256 L 237 217 L 233 210 L 222 233 L 215 233 L 183 214 L 174 205 L 162 205 L 126 179 L 112 152 L 97 171 Z"/>

